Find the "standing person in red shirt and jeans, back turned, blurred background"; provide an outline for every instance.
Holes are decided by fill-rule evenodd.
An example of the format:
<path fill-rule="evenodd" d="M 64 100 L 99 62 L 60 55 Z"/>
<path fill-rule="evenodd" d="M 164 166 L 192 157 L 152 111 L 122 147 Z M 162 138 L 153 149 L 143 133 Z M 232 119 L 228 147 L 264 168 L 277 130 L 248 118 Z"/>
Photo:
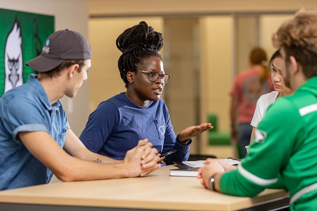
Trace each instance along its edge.
<path fill-rule="evenodd" d="M 250 143 L 250 123 L 256 102 L 260 96 L 270 91 L 265 51 L 261 48 L 253 49 L 249 62 L 251 68 L 237 75 L 231 91 L 231 140 L 238 142 L 243 157 L 246 154 L 244 147 Z"/>

